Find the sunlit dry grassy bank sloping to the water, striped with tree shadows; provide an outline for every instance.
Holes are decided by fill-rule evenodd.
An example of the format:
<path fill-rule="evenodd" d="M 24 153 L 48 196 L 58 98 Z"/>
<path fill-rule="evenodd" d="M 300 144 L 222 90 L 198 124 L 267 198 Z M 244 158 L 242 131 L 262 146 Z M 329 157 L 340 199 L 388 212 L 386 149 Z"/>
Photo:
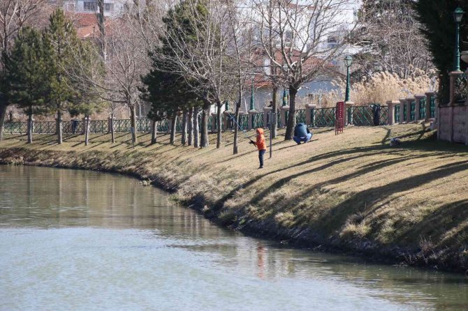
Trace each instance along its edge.
<path fill-rule="evenodd" d="M 253 131 L 252 131 L 253 135 Z M 273 142 L 273 158 L 257 169 L 253 146 L 233 135 L 221 149 L 149 144 L 140 135 L 6 135 L 0 160 L 133 174 L 174 190 L 184 204 L 251 234 L 336 248 L 396 264 L 465 272 L 468 269 L 468 147 L 434 140 L 425 124 L 314 132 L 296 146 Z M 266 135 L 268 137 L 268 135 Z M 390 147 L 390 137 L 401 137 Z M 180 139 L 180 137 L 178 137 Z"/>

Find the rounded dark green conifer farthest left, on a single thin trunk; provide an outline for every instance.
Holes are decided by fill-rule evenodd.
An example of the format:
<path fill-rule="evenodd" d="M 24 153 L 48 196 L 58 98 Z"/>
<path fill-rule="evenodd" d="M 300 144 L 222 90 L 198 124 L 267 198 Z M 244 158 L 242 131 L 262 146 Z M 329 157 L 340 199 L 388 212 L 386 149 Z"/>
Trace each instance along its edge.
<path fill-rule="evenodd" d="M 8 57 L 8 98 L 25 109 L 28 115 L 28 143 L 32 142 L 34 109 L 43 106 L 50 93 L 50 54 L 47 40 L 34 29 L 26 27 L 18 34 Z"/>

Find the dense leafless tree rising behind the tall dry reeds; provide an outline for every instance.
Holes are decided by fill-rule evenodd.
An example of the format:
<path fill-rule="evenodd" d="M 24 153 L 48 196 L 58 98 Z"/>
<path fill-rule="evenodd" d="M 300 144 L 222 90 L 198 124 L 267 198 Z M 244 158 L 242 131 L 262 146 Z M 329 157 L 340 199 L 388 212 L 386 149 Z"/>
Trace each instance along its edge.
<path fill-rule="evenodd" d="M 356 74 L 370 77 L 388 71 L 407 78 L 434 68 L 412 2 L 363 1 L 360 27 L 352 38 L 363 47 L 354 56 Z"/>

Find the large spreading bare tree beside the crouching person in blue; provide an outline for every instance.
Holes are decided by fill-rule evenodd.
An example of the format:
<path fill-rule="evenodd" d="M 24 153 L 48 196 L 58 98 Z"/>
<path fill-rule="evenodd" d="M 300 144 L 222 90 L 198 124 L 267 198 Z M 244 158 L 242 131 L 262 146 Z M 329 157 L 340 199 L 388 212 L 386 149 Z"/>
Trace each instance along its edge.
<path fill-rule="evenodd" d="M 356 26 L 345 26 L 343 20 L 352 2 L 279 0 L 267 5 L 254 0 L 262 53 L 270 66 L 275 67 L 269 75 L 289 90 L 285 139 L 293 138 L 298 90 L 304 83 L 333 72 L 330 61 L 342 53 L 349 33 Z M 334 44 L 328 45 L 331 38 Z"/>

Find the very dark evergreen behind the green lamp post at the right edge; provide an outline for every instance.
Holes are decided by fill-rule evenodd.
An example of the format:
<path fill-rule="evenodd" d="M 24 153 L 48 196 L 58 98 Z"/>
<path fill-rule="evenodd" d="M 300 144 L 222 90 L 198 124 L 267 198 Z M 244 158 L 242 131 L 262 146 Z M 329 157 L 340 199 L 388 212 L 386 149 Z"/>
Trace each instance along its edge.
<path fill-rule="evenodd" d="M 446 104 L 449 100 L 450 78 L 448 73 L 453 70 L 453 54 L 455 49 L 455 21 L 453 11 L 460 7 L 468 12 L 466 0 L 418 0 L 414 8 L 418 12 L 418 20 L 423 24 L 421 31 L 427 38 L 427 48 L 433 56 L 434 66 L 439 70 L 439 103 Z M 460 24 L 462 40 L 468 50 L 468 16 L 463 16 Z M 462 49 L 463 50 L 463 49 Z M 460 61 L 462 70 L 467 64 Z"/>

